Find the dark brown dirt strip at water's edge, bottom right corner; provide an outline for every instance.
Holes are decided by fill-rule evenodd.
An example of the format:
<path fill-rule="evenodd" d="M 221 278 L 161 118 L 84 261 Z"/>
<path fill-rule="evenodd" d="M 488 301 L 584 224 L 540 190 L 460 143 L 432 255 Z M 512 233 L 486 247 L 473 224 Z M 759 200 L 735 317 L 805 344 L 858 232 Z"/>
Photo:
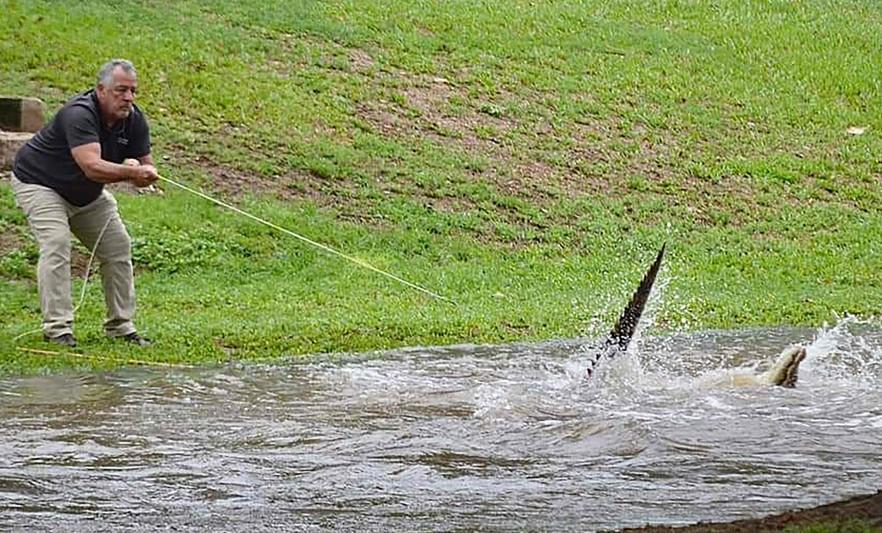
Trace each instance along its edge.
<path fill-rule="evenodd" d="M 806 526 L 810 524 L 841 524 L 854 519 L 866 520 L 873 527 L 882 528 L 882 490 L 872 495 L 857 496 L 812 509 L 787 511 L 763 518 L 736 520 L 727 523 L 699 523 L 684 527 L 647 526 L 623 529 L 622 531 L 641 533 L 754 533 L 758 531 L 781 531 L 791 526 Z"/>

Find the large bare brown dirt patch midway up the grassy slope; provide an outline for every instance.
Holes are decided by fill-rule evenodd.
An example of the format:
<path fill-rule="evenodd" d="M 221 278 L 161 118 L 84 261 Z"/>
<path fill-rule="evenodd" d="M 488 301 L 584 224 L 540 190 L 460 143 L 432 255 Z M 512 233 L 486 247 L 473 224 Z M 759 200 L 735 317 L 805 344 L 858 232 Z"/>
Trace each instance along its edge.
<path fill-rule="evenodd" d="M 617 197 L 643 192 L 671 196 L 665 187 L 683 187 L 684 177 L 674 175 L 671 161 L 687 155 L 687 149 L 673 135 L 659 135 L 616 117 L 585 117 L 563 129 L 541 118 L 532 125 L 522 124 L 504 111 L 508 102 L 522 96 L 501 92 L 485 97 L 482 103 L 443 78 L 406 72 L 383 74 L 388 80 L 381 83 L 395 88 L 400 99 L 393 96 L 391 100 L 362 103 L 357 108 L 359 118 L 383 135 L 414 142 L 430 140 L 486 161 L 472 176 L 507 195 L 541 205 L 585 195 Z M 515 144 L 511 140 L 514 136 L 528 139 L 530 145 Z M 543 152 L 557 160 L 538 159 L 536 154 Z M 627 176 L 641 176 L 645 188 L 635 191 Z M 728 192 L 728 187 L 726 180 L 688 184 L 694 191 L 688 208 L 696 212 L 699 223 L 711 221 L 706 213 L 720 207 L 713 202 L 719 198 L 717 193 Z M 750 199 L 749 190 L 745 197 Z"/>

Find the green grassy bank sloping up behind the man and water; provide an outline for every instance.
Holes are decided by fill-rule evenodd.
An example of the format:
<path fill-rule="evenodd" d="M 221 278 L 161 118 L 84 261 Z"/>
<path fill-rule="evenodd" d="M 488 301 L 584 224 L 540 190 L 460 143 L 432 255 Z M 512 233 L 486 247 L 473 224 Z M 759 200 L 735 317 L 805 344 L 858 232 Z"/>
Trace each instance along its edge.
<path fill-rule="evenodd" d="M 879 314 L 876 2 L 0 8 L 0 93 L 54 111 L 131 59 L 161 173 L 458 303 L 166 186 L 118 195 L 141 357 L 599 334 L 665 241 L 656 331 Z M 17 350 L 44 345 L 13 340 L 39 302 L 7 183 L 0 233 L 3 371 L 89 364 Z M 102 314 L 90 283 L 84 350 L 134 353 Z"/>

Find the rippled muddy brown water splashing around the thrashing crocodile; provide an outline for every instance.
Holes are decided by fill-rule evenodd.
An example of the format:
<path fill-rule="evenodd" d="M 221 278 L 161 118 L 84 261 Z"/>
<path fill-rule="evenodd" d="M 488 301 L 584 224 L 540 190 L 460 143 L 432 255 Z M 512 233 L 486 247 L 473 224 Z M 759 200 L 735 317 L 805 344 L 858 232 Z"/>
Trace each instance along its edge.
<path fill-rule="evenodd" d="M 715 384 L 808 344 L 796 389 Z M 0 529 L 583 531 L 882 487 L 882 332 L 583 341 L 0 381 Z"/>

